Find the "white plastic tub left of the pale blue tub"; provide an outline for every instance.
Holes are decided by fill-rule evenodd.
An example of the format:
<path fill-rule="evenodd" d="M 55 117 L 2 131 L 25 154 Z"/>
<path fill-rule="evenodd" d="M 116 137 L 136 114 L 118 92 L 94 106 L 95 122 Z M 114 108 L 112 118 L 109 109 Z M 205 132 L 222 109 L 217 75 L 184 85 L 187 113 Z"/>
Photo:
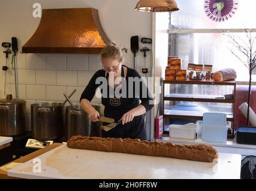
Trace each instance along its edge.
<path fill-rule="evenodd" d="M 169 136 L 173 138 L 194 139 L 197 126 L 195 124 L 169 125 Z"/>

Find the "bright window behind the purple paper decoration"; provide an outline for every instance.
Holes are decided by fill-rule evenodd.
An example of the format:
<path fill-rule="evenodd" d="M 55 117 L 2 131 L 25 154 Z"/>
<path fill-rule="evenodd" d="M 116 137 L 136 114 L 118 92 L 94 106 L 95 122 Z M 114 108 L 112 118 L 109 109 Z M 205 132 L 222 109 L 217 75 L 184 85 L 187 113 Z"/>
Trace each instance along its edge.
<path fill-rule="evenodd" d="M 169 56 L 182 58 L 183 69 L 188 63 L 212 64 L 213 71 L 231 67 L 237 71 L 237 81 L 248 81 L 248 69 L 229 50 L 227 32 L 242 39 L 245 39 L 245 28 L 253 28 L 256 32 L 253 16 L 256 2 L 239 1 L 238 10 L 231 19 L 215 23 L 204 13 L 203 0 L 176 1 L 180 11 L 170 13 Z M 256 75 L 252 78 L 256 81 Z"/>

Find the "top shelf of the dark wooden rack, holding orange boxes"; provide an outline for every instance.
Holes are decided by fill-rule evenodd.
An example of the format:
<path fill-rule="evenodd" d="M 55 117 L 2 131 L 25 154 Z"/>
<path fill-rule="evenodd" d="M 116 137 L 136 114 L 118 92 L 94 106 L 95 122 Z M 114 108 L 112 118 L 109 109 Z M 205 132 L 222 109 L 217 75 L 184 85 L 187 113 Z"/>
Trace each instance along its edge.
<path fill-rule="evenodd" d="M 227 82 L 216 82 L 216 81 L 206 81 L 206 80 L 184 80 L 184 81 L 163 81 L 164 84 L 197 84 L 197 85 L 236 85 L 236 81 L 227 81 Z"/>

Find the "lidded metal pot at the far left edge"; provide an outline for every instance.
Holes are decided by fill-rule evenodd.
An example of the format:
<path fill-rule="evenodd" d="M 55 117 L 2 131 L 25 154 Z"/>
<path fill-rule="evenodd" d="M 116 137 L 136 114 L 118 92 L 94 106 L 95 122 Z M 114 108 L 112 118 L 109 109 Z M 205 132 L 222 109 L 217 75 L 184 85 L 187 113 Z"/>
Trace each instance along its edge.
<path fill-rule="evenodd" d="M 26 101 L 18 98 L 0 99 L 0 135 L 13 136 L 26 133 Z"/>

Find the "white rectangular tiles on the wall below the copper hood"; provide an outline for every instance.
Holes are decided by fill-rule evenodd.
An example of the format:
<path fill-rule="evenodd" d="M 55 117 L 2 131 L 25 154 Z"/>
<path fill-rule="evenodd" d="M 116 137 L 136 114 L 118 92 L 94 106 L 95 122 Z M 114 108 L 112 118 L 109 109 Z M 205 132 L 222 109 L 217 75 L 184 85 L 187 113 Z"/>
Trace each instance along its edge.
<path fill-rule="evenodd" d="M 150 70 L 151 53 L 147 53 L 146 67 Z M 133 54 L 124 53 L 125 65 L 133 68 Z M 86 85 L 97 70 L 102 69 L 100 55 L 94 54 L 20 54 L 18 60 L 19 98 L 26 100 L 26 128 L 31 130 L 31 104 L 44 102 L 62 102 L 63 93 L 70 93 L 76 89 L 71 97 L 74 105 L 79 104 L 80 96 Z M 143 54 L 136 57 L 137 70 L 141 73 L 144 68 Z M 148 74 L 150 76 L 151 73 Z M 6 93 L 15 94 L 14 70 L 7 71 Z M 104 115 L 104 106 L 101 98 L 96 96 L 92 104 L 101 106 L 101 115 Z M 65 106 L 69 106 L 66 103 Z M 147 127 L 150 114 L 147 114 Z"/>

